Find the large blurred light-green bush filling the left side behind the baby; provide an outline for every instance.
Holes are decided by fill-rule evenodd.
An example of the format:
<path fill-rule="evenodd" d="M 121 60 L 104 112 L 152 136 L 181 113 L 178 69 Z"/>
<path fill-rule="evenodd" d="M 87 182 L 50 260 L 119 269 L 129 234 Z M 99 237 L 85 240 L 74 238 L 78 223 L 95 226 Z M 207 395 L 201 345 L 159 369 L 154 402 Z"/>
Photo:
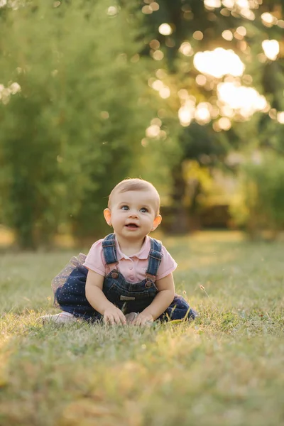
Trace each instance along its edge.
<path fill-rule="evenodd" d="M 22 247 L 48 244 L 70 221 L 77 235 L 98 234 L 106 197 L 129 173 L 151 117 L 132 59 L 137 32 L 107 0 L 5 9 L 1 216 Z"/>

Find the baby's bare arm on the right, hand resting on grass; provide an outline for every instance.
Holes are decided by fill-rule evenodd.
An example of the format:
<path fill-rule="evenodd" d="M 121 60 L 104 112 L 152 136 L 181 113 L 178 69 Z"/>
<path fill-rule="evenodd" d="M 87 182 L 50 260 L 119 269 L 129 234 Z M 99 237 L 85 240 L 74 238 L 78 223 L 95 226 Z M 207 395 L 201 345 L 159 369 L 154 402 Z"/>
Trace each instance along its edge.
<path fill-rule="evenodd" d="M 143 325 L 148 321 L 156 320 L 173 302 L 173 298 L 175 297 L 173 273 L 157 280 L 155 285 L 158 288 L 158 294 L 155 296 L 153 302 L 133 320 L 133 324 Z"/>

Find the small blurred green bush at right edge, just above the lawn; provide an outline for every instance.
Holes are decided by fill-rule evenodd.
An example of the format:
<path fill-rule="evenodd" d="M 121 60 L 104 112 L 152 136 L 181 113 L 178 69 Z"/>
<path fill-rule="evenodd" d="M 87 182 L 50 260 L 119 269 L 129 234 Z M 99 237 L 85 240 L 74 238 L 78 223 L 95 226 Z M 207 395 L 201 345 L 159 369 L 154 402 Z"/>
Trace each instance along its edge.
<path fill-rule="evenodd" d="M 260 163 L 241 168 L 241 193 L 231 206 L 236 223 L 245 226 L 252 237 L 261 231 L 275 236 L 284 226 L 284 158 L 271 152 Z"/>

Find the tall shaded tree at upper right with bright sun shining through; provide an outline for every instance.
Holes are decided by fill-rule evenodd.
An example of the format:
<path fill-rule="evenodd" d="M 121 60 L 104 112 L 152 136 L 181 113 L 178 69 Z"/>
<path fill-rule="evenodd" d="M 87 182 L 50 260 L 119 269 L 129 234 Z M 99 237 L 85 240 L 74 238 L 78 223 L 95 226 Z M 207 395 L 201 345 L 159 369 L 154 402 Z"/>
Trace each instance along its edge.
<path fill-rule="evenodd" d="M 195 99 L 196 105 L 207 102 L 215 111 L 217 110 L 217 114 L 215 113 L 212 118 L 213 125 L 215 122 L 217 124 L 214 129 L 218 129 L 220 114 L 224 114 L 219 108 L 217 87 L 226 75 L 206 76 L 207 83 L 198 84 L 197 76 L 202 77 L 202 72 L 194 66 L 194 54 L 203 50 L 213 50 L 219 46 L 233 49 L 246 65 L 246 73 L 239 77 L 239 82 L 247 87 L 253 84 L 261 94 L 267 96 L 273 108 L 278 111 L 284 109 L 283 58 L 280 56 L 278 61 L 268 60 L 261 46 L 261 41 L 267 38 L 281 40 L 284 3 L 283 1 L 260 3 L 250 1 L 251 9 L 248 9 L 240 6 L 237 1 L 165 0 L 153 4 L 147 1 L 141 7 L 144 14 L 146 44 L 143 53 L 150 55 L 157 63 L 153 80 L 155 78 L 160 80 L 160 87 L 164 86 L 170 92 L 170 96 L 165 96 L 163 107 L 160 107 L 163 114 L 159 115 L 158 112 L 162 121 L 160 128 L 162 130 L 168 128 L 170 134 L 169 138 L 163 140 L 160 152 L 161 155 L 166 153 L 165 161 L 170 160 L 172 204 L 177 209 L 179 217 L 182 215 L 182 206 L 183 216 L 187 214 L 184 203 L 186 182 L 182 177 L 182 162 L 186 158 L 199 160 L 203 153 L 208 155 L 209 160 L 211 159 L 211 163 L 209 162 L 207 166 L 216 164 L 216 158 L 221 162 L 231 149 L 242 144 L 247 145 L 248 131 L 251 129 L 250 125 L 246 126 L 248 121 L 244 123 L 246 119 L 238 113 L 233 120 L 230 117 L 226 121 L 226 123 L 233 121 L 233 129 L 229 133 L 223 131 L 214 134 L 211 125 L 203 126 L 208 121 L 202 123 L 202 120 L 200 125 L 198 122 L 190 124 L 189 120 L 184 127 L 180 126 L 178 111 L 184 91 Z M 263 13 L 267 13 L 268 16 L 263 16 Z M 154 89 L 158 87 L 156 81 L 152 85 Z M 160 92 L 160 96 L 163 97 L 163 92 Z M 239 123 L 242 131 L 246 132 L 245 138 L 241 138 Z M 269 134 L 271 139 L 272 134 L 268 131 L 271 127 L 270 117 L 258 114 L 258 120 L 254 121 L 254 124 L 259 125 L 259 129 L 264 129 L 265 126 L 266 136 Z M 272 126 L 275 128 L 274 124 Z M 281 132 L 279 126 L 278 129 Z M 175 137 L 175 143 L 171 141 L 172 135 Z M 258 144 L 263 143 L 261 139 L 262 137 L 258 138 Z M 277 139 L 279 141 L 279 138 Z M 153 148 L 153 143 L 148 143 L 148 151 Z M 175 155 L 169 155 L 169 151 Z M 202 165 L 202 162 L 200 163 Z M 186 230 L 185 226 L 182 226 L 184 223 L 185 221 L 179 221 L 180 231 Z"/>

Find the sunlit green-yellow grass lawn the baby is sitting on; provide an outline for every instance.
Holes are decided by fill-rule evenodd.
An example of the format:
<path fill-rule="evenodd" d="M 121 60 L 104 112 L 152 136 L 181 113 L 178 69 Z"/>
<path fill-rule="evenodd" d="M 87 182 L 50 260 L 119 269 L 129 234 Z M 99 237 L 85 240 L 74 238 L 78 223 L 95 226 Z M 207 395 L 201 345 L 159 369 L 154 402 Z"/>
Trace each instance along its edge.
<path fill-rule="evenodd" d="M 43 327 L 50 280 L 74 251 L 2 254 L 1 426 L 284 424 L 284 244 L 163 242 L 200 312 L 192 324 Z"/>

